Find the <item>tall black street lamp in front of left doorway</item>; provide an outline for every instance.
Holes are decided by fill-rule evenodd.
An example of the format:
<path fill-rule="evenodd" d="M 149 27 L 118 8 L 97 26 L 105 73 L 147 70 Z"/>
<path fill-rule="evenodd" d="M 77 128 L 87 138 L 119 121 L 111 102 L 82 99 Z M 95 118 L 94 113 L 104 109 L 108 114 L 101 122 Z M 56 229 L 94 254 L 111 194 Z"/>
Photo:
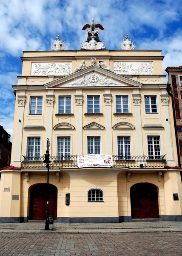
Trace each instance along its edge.
<path fill-rule="evenodd" d="M 49 154 L 49 146 L 50 146 L 50 141 L 47 138 L 47 150 L 46 150 L 46 154 L 45 155 L 45 159 L 43 160 L 43 163 L 46 163 L 46 167 L 47 167 L 47 204 L 46 204 L 46 225 L 44 230 L 49 230 L 49 225 L 48 225 L 48 179 L 49 179 L 49 163 L 51 163 L 51 161 L 49 160 L 50 154 Z"/>

